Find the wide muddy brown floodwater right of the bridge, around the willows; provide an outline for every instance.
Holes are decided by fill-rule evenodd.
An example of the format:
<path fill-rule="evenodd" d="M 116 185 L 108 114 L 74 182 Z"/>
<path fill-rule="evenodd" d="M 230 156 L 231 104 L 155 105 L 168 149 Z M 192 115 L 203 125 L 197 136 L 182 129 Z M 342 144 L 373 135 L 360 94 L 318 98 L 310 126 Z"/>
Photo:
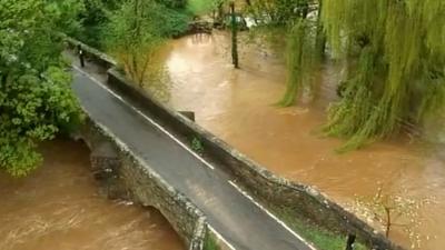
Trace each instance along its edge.
<path fill-rule="evenodd" d="M 171 78 L 169 104 L 196 112 L 197 123 L 219 136 L 271 171 L 318 187 L 343 204 L 356 196 L 400 194 L 406 200 L 434 200 L 418 210 L 423 250 L 445 248 L 444 161 L 418 142 L 400 139 L 363 150 L 335 153 L 342 141 L 322 138 L 316 129 L 335 98 L 336 66 L 315 78 L 319 98 L 312 106 L 277 108 L 285 90 L 283 61 L 267 50 L 241 46 L 241 69 L 234 70 L 224 33 L 171 41 L 164 54 Z M 403 228 L 392 238 L 406 247 Z"/>

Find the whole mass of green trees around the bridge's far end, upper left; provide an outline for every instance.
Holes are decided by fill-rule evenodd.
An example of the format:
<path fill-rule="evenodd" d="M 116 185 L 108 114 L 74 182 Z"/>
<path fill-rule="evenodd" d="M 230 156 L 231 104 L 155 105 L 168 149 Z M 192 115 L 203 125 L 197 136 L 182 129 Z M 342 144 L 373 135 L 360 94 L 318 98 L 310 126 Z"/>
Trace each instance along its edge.
<path fill-rule="evenodd" d="M 60 32 L 118 56 L 142 82 L 159 44 L 192 16 L 185 0 L 2 0 L 0 168 L 26 176 L 42 160 L 39 142 L 81 122 Z"/>

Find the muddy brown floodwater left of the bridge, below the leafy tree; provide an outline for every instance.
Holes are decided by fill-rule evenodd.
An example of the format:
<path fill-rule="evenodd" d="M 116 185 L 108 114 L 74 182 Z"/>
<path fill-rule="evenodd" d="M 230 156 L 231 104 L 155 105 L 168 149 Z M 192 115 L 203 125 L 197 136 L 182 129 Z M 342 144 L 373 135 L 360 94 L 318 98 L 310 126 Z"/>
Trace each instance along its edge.
<path fill-rule="evenodd" d="M 53 141 L 30 177 L 0 176 L 1 250 L 185 250 L 154 209 L 98 196 L 82 143 Z"/>

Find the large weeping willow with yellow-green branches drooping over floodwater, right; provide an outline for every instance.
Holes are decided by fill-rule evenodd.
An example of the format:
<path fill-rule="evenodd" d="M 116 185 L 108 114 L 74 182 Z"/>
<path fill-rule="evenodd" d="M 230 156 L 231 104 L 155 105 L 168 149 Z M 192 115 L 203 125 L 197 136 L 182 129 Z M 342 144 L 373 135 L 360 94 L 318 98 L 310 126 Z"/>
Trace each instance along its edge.
<path fill-rule="evenodd" d="M 445 104 L 445 1 L 325 0 L 333 54 L 347 62 L 342 99 L 328 110 L 327 134 L 342 150 L 422 124 Z"/>

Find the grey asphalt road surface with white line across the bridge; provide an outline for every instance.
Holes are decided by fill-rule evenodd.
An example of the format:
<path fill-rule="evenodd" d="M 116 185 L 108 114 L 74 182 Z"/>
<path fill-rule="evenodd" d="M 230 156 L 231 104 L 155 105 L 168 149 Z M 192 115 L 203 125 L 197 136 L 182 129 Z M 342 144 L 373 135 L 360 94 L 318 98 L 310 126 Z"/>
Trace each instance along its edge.
<path fill-rule="evenodd" d="M 137 111 L 77 67 L 72 88 L 91 118 L 188 197 L 233 250 L 315 250 L 241 193 L 228 174 L 206 164 L 152 123 L 147 111 Z"/>

